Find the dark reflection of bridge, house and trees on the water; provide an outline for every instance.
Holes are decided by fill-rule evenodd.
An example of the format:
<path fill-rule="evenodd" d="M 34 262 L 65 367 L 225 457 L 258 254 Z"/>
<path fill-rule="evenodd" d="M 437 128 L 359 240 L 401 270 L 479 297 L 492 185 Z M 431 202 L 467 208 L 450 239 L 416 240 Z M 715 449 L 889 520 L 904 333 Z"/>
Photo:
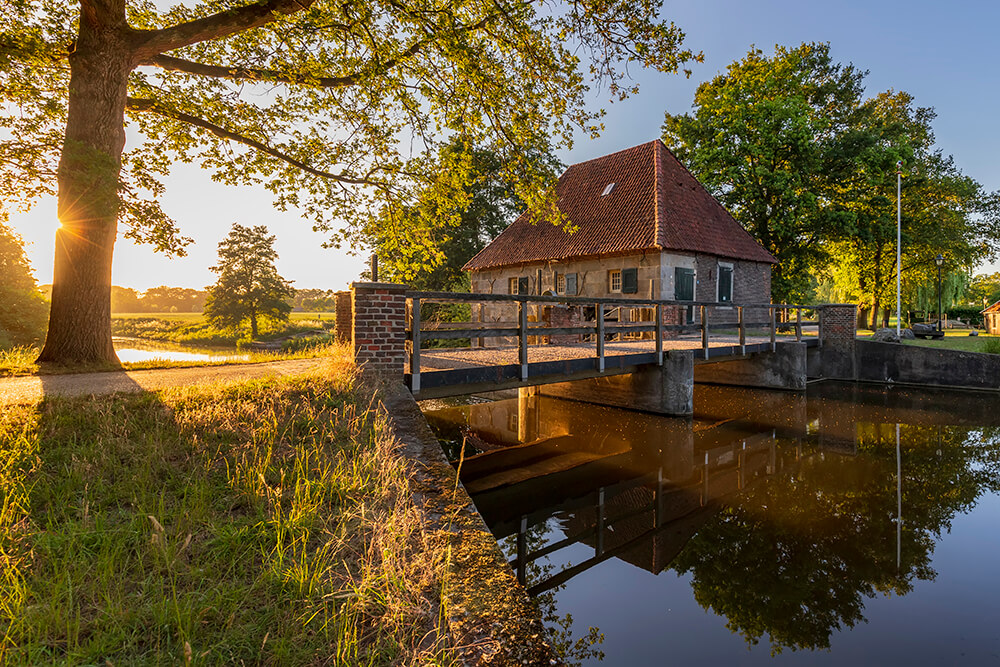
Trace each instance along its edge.
<path fill-rule="evenodd" d="M 464 441 L 462 480 L 558 642 L 574 643 L 557 621 L 575 610 L 551 593 L 614 559 L 685 577 L 698 605 L 777 655 L 829 648 L 869 600 L 935 579 L 953 519 L 1000 491 L 995 405 L 699 386 L 693 420 L 537 396 L 427 414 L 453 458 Z M 633 649 L 613 662 L 639 664 Z"/>

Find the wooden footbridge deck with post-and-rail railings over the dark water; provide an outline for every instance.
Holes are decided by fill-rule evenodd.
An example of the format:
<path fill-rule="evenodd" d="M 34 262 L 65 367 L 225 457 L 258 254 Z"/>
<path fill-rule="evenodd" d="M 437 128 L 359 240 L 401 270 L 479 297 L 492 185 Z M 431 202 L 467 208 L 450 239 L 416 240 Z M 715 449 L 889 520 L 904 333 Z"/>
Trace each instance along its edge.
<path fill-rule="evenodd" d="M 802 305 L 449 292 L 407 292 L 406 302 L 404 381 L 421 399 L 634 373 L 672 350 L 705 364 L 780 342 L 821 345 L 819 312 Z M 456 305 L 476 321 L 444 321 Z M 443 341 L 464 345 L 428 346 Z"/>

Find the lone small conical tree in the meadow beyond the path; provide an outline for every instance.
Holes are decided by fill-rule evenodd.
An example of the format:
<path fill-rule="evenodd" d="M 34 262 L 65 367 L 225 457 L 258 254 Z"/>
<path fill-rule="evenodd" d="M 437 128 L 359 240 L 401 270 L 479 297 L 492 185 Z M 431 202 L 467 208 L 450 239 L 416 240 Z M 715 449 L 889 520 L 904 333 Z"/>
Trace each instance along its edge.
<path fill-rule="evenodd" d="M 259 333 L 259 321 L 287 322 L 295 295 L 290 282 L 278 275 L 274 236 L 267 227 L 234 224 L 219 243 L 219 263 L 212 271 L 219 280 L 208 288 L 205 315 L 213 325 L 235 329 L 250 321 L 250 333 Z"/>

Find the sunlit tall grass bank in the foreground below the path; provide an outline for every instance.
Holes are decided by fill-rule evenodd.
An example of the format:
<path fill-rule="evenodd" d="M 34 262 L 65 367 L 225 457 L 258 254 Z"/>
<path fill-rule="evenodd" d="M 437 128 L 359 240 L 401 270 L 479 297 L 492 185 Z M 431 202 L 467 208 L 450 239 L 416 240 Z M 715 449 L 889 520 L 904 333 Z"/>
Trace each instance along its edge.
<path fill-rule="evenodd" d="M 355 373 L 0 413 L 0 664 L 448 664 Z"/>

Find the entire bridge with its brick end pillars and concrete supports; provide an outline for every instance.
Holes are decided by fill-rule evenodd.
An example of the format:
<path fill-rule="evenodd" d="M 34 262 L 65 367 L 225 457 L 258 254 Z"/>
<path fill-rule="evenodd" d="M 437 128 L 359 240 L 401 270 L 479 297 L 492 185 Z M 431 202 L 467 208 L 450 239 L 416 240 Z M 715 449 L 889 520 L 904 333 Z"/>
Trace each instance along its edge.
<path fill-rule="evenodd" d="M 412 292 L 382 283 L 355 283 L 349 296 L 337 326 L 351 332 L 355 360 L 399 377 L 421 399 L 534 388 L 689 415 L 696 380 L 802 390 L 807 348 L 853 360 L 838 346 L 854 344 L 854 306 Z M 426 321 L 442 308 L 454 316 L 456 305 L 472 321 Z M 807 321 L 803 311 L 817 317 Z M 463 347 L 428 349 L 440 341 Z"/>

